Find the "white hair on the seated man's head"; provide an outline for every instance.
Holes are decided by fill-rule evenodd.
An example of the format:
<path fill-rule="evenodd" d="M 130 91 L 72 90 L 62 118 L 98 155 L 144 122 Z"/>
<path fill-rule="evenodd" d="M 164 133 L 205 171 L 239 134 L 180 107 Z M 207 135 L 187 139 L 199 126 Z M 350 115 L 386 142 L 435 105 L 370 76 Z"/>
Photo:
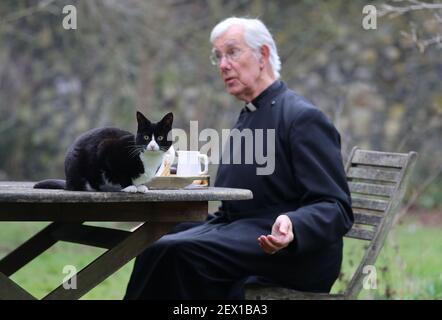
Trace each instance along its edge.
<path fill-rule="evenodd" d="M 244 39 L 247 45 L 255 52 L 260 54 L 261 46 L 266 45 L 270 51 L 269 62 L 276 79 L 279 79 L 281 70 L 281 59 L 276 49 L 275 41 L 273 40 L 270 31 L 259 19 L 249 18 L 227 18 L 218 23 L 210 34 L 210 42 L 213 44 L 215 40 L 224 34 L 232 26 L 241 26 L 244 28 Z"/>

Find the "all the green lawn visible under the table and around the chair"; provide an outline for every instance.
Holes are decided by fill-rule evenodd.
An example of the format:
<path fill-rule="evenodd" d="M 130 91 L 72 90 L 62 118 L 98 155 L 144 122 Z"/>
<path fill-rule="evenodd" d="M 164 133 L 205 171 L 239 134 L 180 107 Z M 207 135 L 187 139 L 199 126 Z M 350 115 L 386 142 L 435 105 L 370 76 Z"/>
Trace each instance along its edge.
<path fill-rule="evenodd" d="M 0 224 L 0 258 L 42 229 L 46 223 Z M 333 287 L 339 292 L 357 267 L 361 241 L 346 240 L 342 279 Z M 37 298 L 44 297 L 66 277 L 63 268 L 85 267 L 104 252 L 60 242 L 20 269 L 12 279 Z M 133 261 L 106 279 L 82 299 L 121 299 L 132 271 Z M 376 263 L 377 289 L 362 290 L 359 299 L 442 299 L 442 232 L 409 221 L 392 230 Z"/>

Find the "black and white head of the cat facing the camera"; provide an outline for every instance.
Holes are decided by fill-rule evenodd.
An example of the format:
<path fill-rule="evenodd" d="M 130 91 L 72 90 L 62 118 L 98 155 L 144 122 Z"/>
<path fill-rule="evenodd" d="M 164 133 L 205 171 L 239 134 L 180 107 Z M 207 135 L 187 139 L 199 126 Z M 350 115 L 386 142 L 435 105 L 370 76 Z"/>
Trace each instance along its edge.
<path fill-rule="evenodd" d="M 169 150 L 172 141 L 167 140 L 167 135 L 172 130 L 173 114 L 169 112 L 161 121 L 150 122 L 141 112 L 137 111 L 138 130 L 136 144 L 143 146 L 144 151 Z"/>

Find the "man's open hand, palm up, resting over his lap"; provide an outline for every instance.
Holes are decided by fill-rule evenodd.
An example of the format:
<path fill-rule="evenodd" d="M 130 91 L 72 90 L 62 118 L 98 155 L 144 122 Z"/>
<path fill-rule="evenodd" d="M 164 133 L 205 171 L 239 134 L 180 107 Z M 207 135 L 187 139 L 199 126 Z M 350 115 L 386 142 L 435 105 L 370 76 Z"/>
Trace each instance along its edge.
<path fill-rule="evenodd" d="M 276 218 L 272 226 L 272 234 L 262 235 L 258 238 L 258 243 L 265 253 L 273 254 L 293 241 L 293 226 L 290 218 L 283 214 Z"/>

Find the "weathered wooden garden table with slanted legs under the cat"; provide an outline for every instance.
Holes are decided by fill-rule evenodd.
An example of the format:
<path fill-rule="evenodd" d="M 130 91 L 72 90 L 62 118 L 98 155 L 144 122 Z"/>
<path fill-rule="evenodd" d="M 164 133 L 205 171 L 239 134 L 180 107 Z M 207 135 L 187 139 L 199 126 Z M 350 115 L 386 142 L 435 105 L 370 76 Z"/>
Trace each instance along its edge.
<path fill-rule="evenodd" d="M 10 276 L 57 241 L 108 249 L 75 275 L 76 289 L 65 289 L 61 284 L 43 298 L 79 299 L 176 224 L 206 219 L 208 201 L 253 197 L 250 190 L 215 187 L 130 194 L 42 190 L 33 189 L 33 185 L 33 182 L 0 181 L 0 223 L 51 222 L 0 260 L 0 299 L 35 299 Z M 133 231 L 125 231 L 83 224 L 92 221 L 140 222 L 140 225 Z"/>

